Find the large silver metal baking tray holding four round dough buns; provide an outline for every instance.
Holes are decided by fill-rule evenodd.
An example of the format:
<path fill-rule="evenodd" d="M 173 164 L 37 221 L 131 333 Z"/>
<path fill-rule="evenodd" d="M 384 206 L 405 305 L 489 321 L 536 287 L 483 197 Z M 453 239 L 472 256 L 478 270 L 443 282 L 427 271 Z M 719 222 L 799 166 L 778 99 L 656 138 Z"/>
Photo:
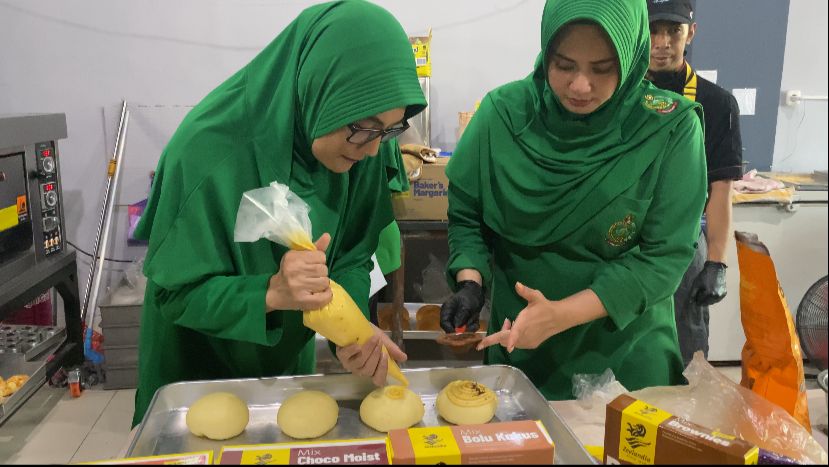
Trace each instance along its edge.
<path fill-rule="evenodd" d="M 428 368 L 404 370 L 410 389 L 426 405 L 423 420 L 416 426 L 447 425 L 435 409 L 437 394 L 456 379 L 470 379 L 490 387 L 498 396 L 493 421 L 541 420 L 556 446 L 557 464 L 594 464 L 570 428 L 520 370 L 506 365 L 469 368 Z M 223 445 L 266 444 L 295 441 L 276 424 L 279 406 L 301 390 L 324 391 L 340 406 L 337 426 L 321 440 L 382 436 L 360 421 L 360 403 L 374 386 L 367 378 L 353 375 L 286 376 L 261 379 L 194 381 L 169 384 L 153 397 L 144 420 L 130 444 L 129 457 L 154 456 L 213 450 Z M 250 421 L 239 436 L 226 441 L 199 438 L 187 430 L 187 408 L 200 397 L 227 391 L 247 401 Z"/>

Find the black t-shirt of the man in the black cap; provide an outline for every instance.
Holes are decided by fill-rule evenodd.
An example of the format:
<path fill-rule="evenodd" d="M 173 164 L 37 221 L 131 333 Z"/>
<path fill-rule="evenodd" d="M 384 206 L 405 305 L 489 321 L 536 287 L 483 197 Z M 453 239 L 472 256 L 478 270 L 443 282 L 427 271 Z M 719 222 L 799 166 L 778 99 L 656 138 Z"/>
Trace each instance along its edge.
<path fill-rule="evenodd" d="M 687 80 L 685 66 L 677 72 L 649 73 L 648 77 L 656 87 L 677 94 L 683 94 Z M 737 100 L 730 92 L 699 76 L 696 100 L 705 116 L 708 184 L 739 180 L 743 176 L 743 142 Z"/>

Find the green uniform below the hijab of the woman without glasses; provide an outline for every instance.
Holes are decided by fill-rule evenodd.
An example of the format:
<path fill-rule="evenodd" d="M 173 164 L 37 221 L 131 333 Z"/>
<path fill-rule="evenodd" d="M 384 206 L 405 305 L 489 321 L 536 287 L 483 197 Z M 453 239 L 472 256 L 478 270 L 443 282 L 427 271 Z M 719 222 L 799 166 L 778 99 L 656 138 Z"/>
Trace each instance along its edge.
<path fill-rule="evenodd" d="M 479 113 L 487 112 L 484 105 Z M 450 276 L 473 268 L 491 278 L 489 334 L 527 306 L 515 292 L 516 282 L 549 300 L 592 289 L 609 314 L 553 336 L 535 350 L 508 354 L 500 345 L 489 347 L 485 363 L 520 368 L 550 400 L 573 397 L 574 374 L 607 368 L 629 390 L 683 381 L 672 295 L 693 254 L 705 200 L 700 135 L 699 118 L 689 113 L 636 184 L 566 238 L 542 247 L 510 241 L 482 224 L 481 194 L 453 185 L 450 171 Z M 694 196 L 700 201 L 689 203 Z M 614 245 L 625 239 L 621 227 L 627 216 L 633 217 L 625 227 L 632 227 L 633 236 Z"/>

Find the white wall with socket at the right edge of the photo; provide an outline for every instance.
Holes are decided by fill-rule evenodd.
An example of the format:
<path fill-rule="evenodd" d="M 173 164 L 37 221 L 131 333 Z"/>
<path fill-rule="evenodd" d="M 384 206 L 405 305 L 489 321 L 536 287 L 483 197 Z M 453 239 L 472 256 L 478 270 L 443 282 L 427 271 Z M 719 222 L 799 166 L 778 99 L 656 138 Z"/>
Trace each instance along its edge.
<path fill-rule="evenodd" d="M 826 0 L 791 0 L 782 91 L 798 89 L 804 95 L 827 95 Z M 827 102 L 782 105 L 777 114 L 773 170 L 811 172 L 827 169 Z"/>

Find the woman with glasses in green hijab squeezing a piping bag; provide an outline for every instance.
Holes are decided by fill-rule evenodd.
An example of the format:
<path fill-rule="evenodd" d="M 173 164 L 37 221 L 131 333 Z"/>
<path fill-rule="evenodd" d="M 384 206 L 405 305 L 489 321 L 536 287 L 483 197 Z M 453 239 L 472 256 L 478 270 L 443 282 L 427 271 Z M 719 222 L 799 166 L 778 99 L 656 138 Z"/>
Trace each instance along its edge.
<path fill-rule="evenodd" d="M 329 277 L 367 314 L 402 166 L 393 138 L 425 106 L 400 24 L 346 0 L 302 12 L 185 117 L 136 231 L 149 249 L 133 425 L 165 384 L 312 373 L 314 333 L 296 310 L 328 303 Z M 233 241 L 242 193 L 273 181 L 310 205 L 318 251 Z M 381 345 L 405 359 L 379 330 L 337 354 L 380 384 Z"/>

